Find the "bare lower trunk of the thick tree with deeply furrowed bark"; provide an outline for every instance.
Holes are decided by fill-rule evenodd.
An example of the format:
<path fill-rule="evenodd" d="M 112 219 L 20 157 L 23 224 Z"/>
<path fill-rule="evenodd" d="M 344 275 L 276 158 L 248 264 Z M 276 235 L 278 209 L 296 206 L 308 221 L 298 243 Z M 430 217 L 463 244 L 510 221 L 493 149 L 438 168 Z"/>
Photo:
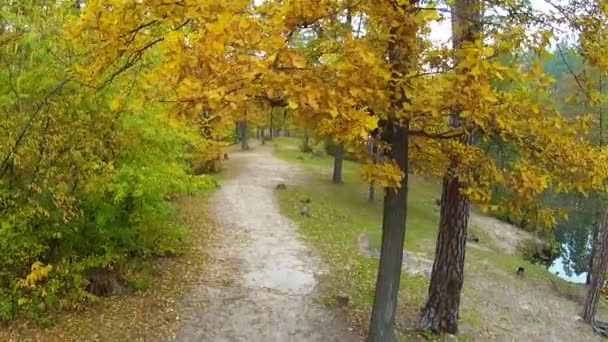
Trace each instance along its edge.
<path fill-rule="evenodd" d="M 469 200 L 460 193 L 462 184 L 446 176 L 441 194 L 439 234 L 426 305 L 420 316 L 420 329 L 456 334 L 460 292 L 464 281 L 464 257 Z"/>

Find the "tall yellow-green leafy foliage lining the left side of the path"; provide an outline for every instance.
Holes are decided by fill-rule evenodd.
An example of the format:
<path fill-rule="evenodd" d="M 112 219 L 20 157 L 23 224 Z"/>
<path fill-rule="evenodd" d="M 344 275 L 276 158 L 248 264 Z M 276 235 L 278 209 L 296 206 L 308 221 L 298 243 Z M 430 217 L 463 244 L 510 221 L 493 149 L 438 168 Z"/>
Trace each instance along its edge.
<path fill-rule="evenodd" d="M 0 320 L 49 324 L 100 294 L 85 291 L 92 269 L 176 252 L 168 195 L 212 184 L 189 175 L 194 120 L 147 101 L 158 84 L 129 68 L 157 65 L 158 50 L 140 53 L 154 43 L 127 34 L 137 47 L 90 77 L 92 37 L 66 32 L 84 19 L 80 4 L 0 6 Z"/>

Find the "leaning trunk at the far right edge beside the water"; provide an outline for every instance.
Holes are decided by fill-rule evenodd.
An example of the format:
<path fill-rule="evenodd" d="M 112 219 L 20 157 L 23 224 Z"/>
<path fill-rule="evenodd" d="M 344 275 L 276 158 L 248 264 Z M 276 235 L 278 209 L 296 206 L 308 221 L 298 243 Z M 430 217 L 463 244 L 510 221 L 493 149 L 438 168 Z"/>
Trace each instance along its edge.
<path fill-rule="evenodd" d="M 598 238 L 594 241 L 594 245 L 593 274 L 591 275 L 591 284 L 589 284 L 587 290 L 587 299 L 582 313 L 583 320 L 590 324 L 595 321 L 597 303 L 604 286 L 604 274 L 608 267 L 608 209 L 604 211 L 600 232 Z"/>

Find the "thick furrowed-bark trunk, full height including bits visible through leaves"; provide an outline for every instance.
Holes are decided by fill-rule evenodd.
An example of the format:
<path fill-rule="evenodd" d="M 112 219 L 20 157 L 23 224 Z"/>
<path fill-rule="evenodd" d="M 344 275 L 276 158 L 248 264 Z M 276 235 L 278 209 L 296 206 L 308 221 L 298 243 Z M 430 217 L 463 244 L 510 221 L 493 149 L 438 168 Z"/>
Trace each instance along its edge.
<path fill-rule="evenodd" d="M 452 41 L 454 49 L 463 43 L 474 42 L 481 32 L 480 0 L 456 0 L 452 8 Z M 458 63 L 458 61 L 457 61 Z M 466 72 L 466 71 L 465 71 Z M 450 126 L 460 126 L 460 112 L 454 108 Z M 473 135 L 461 140 L 473 142 Z M 460 293 L 464 282 L 466 234 L 470 204 L 462 194 L 467 184 L 455 174 L 458 161 L 452 159 L 443 179 L 439 232 L 435 247 L 435 261 L 426 304 L 419 321 L 421 330 L 455 334 L 458 332 Z"/>

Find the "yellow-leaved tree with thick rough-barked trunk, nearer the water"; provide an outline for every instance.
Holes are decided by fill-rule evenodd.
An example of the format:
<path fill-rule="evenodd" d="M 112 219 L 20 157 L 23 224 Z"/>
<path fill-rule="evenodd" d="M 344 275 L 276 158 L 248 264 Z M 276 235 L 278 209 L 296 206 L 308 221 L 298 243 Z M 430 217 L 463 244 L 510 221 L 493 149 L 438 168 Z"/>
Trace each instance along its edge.
<path fill-rule="evenodd" d="M 543 74 L 542 60 L 548 54 L 551 33 L 530 33 L 531 23 L 525 16 L 505 18 L 511 24 L 509 30 L 490 18 L 491 25 L 482 31 L 480 3 L 474 1 L 457 1 L 452 20 L 453 58 L 444 60 L 453 64 L 433 77 L 435 82 L 427 88 L 429 94 L 442 89 L 442 107 L 429 103 L 427 110 L 435 113 L 417 120 L 427 120 L 427 127 L 433 127 L 430 121 L 440 118 L 438 128 L 434 136 L 426 130 L 420 134 L 425 139 L 412 140 L 414 159 L 426 160 L 416 163 L 425 173 L 437 173 L 437 166 L 447 170 L 442 175 L 440 227 L 429 295 L 420 317 L 421 329 L 439 333 L 458 330 L 470 201 L 487 207 L 491 184 L 503 184 L 513 191 L 513 197 L 500 206 L 517 216 L 532 211 L 538 224 L 552 226 L 557 211 L 543 206 L 542 193 L 598 188 L 605 177 L 600 162 L 605 156 L 585 137 L 588 119 L 564 118 L 549 99 L 552 80 Z M 525 51 L 534 57 L 522 63 L 517 56 Z M 513 57 L 496 58 L 500 55 Z M 501 89 L 497 83 L 508 87 Z M 534 90 L 529 88 L 532 85 Z M 426 100 L 414 98 L 414 104 L 416 101 Z M 415 126 L 412 129 L 416 132 Z M 517 151 L 502 168 L 473 144 L 473 140 L 484 142 L 492 137 L 512 144 Z"/>

